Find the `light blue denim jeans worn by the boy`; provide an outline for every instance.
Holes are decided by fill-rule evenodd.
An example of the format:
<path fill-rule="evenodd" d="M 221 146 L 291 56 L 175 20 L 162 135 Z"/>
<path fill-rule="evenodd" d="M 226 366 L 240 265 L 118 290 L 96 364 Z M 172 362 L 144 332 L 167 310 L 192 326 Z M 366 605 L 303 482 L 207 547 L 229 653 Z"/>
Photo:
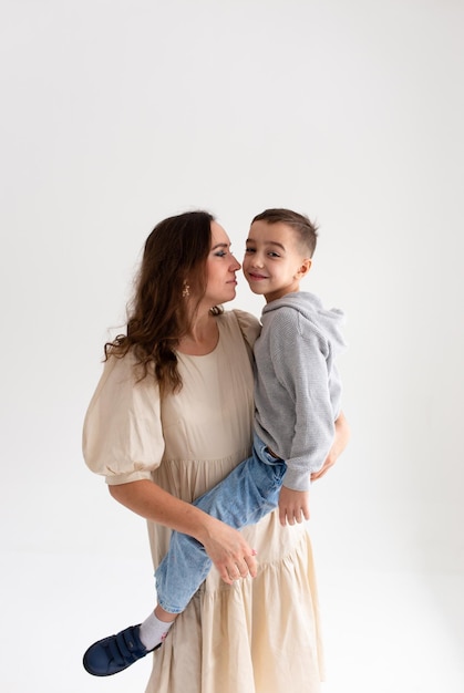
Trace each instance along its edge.
<path fill-rule="evenodd" d="M 255 435 L 251 457 L 193 505 L 236 529 L 255 525 L 277 507 L 286 469 L 286 463 L 270 455 L 266 444 Z M 212 565 L 199 541 L 173 531 L 169 550 L 155 572 L 163 609 L 169 613 L 184 611 Z"/>

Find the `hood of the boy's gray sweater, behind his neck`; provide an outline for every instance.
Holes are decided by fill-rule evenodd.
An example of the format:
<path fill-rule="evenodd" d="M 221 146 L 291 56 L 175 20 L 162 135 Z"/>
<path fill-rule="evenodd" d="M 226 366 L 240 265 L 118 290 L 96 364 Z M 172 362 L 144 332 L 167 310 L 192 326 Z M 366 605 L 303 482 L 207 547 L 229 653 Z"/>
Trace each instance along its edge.
<path fill-rule="evenodd" d="M 341 333 L 341 328 L 346 322 L 342 310 L 326 309 L 315 293 L 298 291 L 298 293 L 287 293 L 281 299 L 267 303 L 262 309 L 262 319 L 266 320 L 267 313 L 283 307 L 296 310 L 311 322 L 315 329 L 330 342 L 334 354 L 339 355 L 346 351 L 347 343 Z"/>

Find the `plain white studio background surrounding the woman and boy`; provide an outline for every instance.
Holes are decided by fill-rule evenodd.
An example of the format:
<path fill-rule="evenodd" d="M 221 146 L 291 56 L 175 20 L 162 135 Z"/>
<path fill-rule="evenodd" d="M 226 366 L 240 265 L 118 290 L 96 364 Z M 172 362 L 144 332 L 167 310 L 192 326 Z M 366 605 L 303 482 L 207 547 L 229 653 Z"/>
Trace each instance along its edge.
<path fill-rule="evenodd" d="M 241 258 L 285 206 L 320 225 L 305 288 L 348 316 L 352 441 L 309 525 L 327 693 L 461 692 L 464 3 L 0 12 L 2 690 L 144 690 L 148 662 L 80 663 L 153 599 L 143 520 L 81 456 L 102 345 L 157 221 L 207 208 Z M 243 279 L 235 306 L 261 310 Z"/>

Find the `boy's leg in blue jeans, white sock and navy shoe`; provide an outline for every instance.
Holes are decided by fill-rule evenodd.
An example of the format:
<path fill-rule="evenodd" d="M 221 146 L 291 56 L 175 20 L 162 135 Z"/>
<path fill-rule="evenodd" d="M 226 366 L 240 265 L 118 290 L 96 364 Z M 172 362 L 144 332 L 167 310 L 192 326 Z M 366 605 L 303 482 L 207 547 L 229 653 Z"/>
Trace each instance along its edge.
<path fill-rule="evenodd" d="M 194 505 L 236 529 L 255 524 L 277 506 L 285 469 L 285 462 L 275 459 L 266 452 L 262 442 L 256 438 L 252 457 L 197 498 Z M 173 532 L 169 551 L 156 571 L 158 606 L 168 613 L 181 613 L 210 567 L 212 561 L 198 541 Z M 93 643 L 84 654 L 84 668 L 96 676 L 123 671 L 158 648 L 169 625 L 164 622 L 164 617 L 159 621 L 156 612 L 152 612 L 142 624 L 131 625 Z"/>

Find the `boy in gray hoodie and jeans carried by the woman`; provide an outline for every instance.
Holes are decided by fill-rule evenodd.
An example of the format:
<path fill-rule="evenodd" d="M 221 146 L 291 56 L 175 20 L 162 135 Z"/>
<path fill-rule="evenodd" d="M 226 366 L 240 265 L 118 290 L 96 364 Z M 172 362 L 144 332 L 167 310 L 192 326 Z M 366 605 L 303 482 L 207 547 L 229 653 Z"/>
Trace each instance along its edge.
<path fill-rule="evenodd" d="M 311 221 L 288 209 L 267 209 L 251 223 L 244 273 L 262 294 L 262 329 L 255 344 L 255 441 L 252 456 L 194 505 L 235 528 L 257 523 L 279 506 L 281 525 L 309 519 L 310 479 L 321 476 L 333 449 L 341 385 L 334 359 L 344 349 L 342 313 L 300 292 L 316 248 Z M 346 442 L 346 441 L 344 441 Z M 336 456 L 344 447 L 340 445 Z M 171 624 L 209 572 L 212 560 L 193 537 L 173 532 L 156 570 L 158 604 L 140 625 L 97 641 L 84 668 L 117 673 L 161 647 Z M 237 573 L 225 579 L 245 577 Z"/>

